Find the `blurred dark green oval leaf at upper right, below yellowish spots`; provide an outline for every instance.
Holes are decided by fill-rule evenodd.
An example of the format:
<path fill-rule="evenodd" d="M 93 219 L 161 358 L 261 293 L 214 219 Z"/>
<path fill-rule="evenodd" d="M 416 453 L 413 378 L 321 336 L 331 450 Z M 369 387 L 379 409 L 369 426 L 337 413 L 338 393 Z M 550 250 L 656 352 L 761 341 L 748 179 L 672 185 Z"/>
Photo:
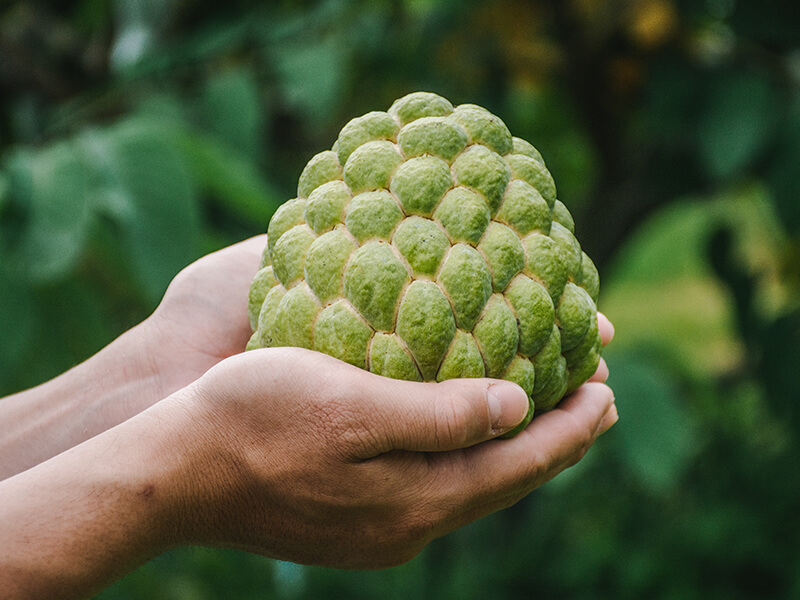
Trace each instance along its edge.
<path fill-rule="evenodd" d="M 775 90 L 763 77 L 731 72 L 714 82 L 697 132 L 709 175 L 728 177 L 760 155 L 775 127 L 776 104 Z"/>

